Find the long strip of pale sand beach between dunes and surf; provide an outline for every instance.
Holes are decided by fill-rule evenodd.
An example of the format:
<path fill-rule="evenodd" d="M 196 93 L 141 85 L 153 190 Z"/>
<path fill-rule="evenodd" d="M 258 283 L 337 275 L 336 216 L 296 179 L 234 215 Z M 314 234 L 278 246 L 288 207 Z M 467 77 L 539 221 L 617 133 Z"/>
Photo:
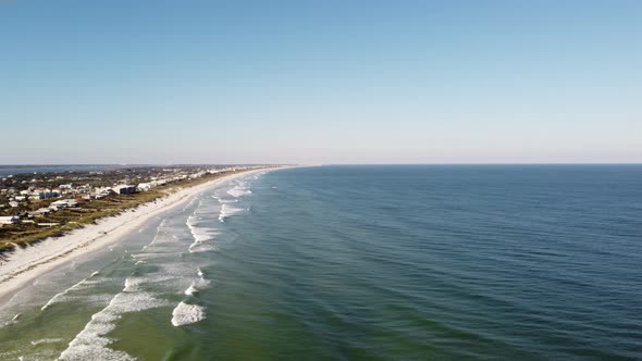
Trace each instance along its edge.
<path fill-rule="evenodd" d="M 10 303 L 29 282 L 64 263 L 122 239 L 157 214 L 178 207 L 197 194 L 242 176 L 276 169 L 259 169 L 231 174 L 196 186 L 183 188 L 156 201 L 104 217 L 58 238 L 47 238 L 25 249 L 17 248 L 0 263 L 0 309 Z"/>

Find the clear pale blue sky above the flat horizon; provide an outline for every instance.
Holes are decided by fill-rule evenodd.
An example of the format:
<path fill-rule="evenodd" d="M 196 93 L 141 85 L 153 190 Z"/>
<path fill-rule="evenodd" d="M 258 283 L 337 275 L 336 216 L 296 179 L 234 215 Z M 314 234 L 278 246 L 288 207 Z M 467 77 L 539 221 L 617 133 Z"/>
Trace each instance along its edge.
<path fill-rule="evenodd" d="M 642 162 L 642 1 L 0 0 L 0 163 Z"/>

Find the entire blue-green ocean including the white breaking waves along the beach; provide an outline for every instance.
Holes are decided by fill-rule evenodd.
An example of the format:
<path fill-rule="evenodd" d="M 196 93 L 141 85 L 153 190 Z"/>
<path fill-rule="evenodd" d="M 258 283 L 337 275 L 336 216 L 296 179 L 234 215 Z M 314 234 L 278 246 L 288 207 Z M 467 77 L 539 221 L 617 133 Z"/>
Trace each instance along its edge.
<path fill-rule="evenodd" d="M 640 165 L 268 172 L 38 278 L 0 360 L 639 360 L 641 242 Z"/>

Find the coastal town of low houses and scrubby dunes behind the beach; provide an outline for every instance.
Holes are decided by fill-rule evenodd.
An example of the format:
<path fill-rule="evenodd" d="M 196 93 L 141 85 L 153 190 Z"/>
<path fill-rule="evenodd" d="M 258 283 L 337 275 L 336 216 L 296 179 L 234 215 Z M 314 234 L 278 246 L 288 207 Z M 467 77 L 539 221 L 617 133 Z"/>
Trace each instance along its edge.
<path fill-rule="evenodd" d="M 0 177 L 0 252 L 95 223 L 233 172 L 264 165 L 140 166 Z"/>

